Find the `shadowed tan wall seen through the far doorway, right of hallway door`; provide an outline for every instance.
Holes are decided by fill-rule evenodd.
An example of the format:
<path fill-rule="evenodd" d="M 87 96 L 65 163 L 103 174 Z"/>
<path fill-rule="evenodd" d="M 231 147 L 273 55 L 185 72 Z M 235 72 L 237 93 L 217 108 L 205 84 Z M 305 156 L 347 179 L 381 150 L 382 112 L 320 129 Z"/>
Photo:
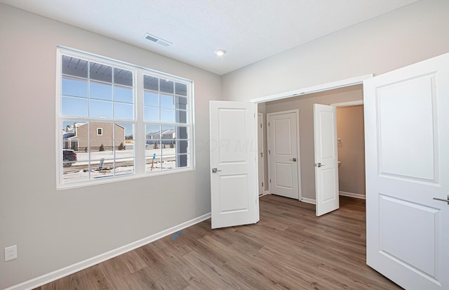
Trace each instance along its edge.
<path fill-rule="evenodd" d="M 365 195 L 363 105 L 337 107 L 338 185 L 341 192 Z"/>

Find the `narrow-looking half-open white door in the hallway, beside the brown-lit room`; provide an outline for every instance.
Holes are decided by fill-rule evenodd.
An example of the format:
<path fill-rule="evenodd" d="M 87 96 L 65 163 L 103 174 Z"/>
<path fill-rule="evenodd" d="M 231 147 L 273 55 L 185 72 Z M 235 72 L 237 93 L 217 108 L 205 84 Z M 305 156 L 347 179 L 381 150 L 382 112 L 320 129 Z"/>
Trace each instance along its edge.
<path fill-rule="evenodd" d="M 316 216 L 340 207 L 338 191 L 337 107 L 314 104 Z"/>

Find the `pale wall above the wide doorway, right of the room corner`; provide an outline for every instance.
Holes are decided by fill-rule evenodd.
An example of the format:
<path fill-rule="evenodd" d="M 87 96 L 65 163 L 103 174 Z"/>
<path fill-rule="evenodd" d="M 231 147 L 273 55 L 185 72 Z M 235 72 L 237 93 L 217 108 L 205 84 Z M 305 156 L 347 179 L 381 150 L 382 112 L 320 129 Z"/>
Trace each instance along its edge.
<path fill-rule="evenodd" d="M 448 15 L 448 0 L 415 2 L 226 74 L 223 96 L 250 100 L 363 74 L 382 74 L 447 53 Z"/>

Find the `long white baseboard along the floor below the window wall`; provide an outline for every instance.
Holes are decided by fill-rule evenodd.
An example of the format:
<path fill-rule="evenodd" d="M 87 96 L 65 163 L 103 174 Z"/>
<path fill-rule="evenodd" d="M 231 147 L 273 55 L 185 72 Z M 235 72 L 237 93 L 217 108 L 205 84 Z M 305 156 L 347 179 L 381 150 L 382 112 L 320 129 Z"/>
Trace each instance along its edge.
<path fill-rule="evenodd" d="M 140 239 L 138 241 L 132 242 L 130 244 L 127 244 L 125 246 L 121 246 L 117 249 L 107 251 L 106 253 L 102 253 L 98 256 L 88 258 L 87 260 L 81 261 L 79 263 L 75 263 L 73 265 L 69 265 L 65 268 L 55 270 L 53 272 L 50 272 L 48 274 L 42 275 L 40 277 L 36 277 L 34 279 L 28 280 L 26 282 L 11 286 L 9 288 L 6 288 L 4 290 L 28 290 L 28 289 L 34 289 L 36 287 L 42 286 L 44 284 L 53 282 L 57 279 L 60 279 L 62 277 L 68 276 L 70 274 L 73 274 L 74 272 L 78 272 L 81 270 L 84 270 L 86 268 L 89 268 L 93 265 L 96 265 L 98 263 L 104 262 L 106 260 L 109 260 L 110 258 L 114 258 L 116 256 L 119 256 L 123 253 L 126 253 L 128 251 L 133 251 L 133 249 L 137 249 L 140 246 L 145 246 L 146 244 L 149 244 L 151 242 L 156 241 L 156 239 L 161 239 L 163 237 L 166 237 L 170 234 L 173 234 L 173 232 L 178 232 L 182 229 L 188 228 L 192 225 L 195 225 L 196 223 L 201 223 L 203 220 L 207 220 L 210 218 L 210 213 L 206 213 L 203 216 L 199 216 L 198 218 L 194 218 L 192 220 L 188 220 L 185 223 L 181 223 L 180 225 L 175 225 L 173 228 L 169 228 L 167 230 L 163 230 L 161 232 L 158 232 L 154 235 L 151 235 L 149 237 L 145 237 L 143 239 Z"/>

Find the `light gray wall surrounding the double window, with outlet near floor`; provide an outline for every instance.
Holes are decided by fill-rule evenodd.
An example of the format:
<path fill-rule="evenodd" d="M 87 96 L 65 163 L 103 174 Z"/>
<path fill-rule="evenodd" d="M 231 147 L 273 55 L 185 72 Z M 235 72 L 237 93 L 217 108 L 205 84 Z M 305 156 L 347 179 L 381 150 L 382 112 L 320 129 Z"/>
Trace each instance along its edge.
<path fill-rule="evenodd" d="M 210 212 L 208 101 L 219 76 L 0 4 L 0 289 Z M 56 190 L 56 46 L 194 80 L 196 170 Z"/>

